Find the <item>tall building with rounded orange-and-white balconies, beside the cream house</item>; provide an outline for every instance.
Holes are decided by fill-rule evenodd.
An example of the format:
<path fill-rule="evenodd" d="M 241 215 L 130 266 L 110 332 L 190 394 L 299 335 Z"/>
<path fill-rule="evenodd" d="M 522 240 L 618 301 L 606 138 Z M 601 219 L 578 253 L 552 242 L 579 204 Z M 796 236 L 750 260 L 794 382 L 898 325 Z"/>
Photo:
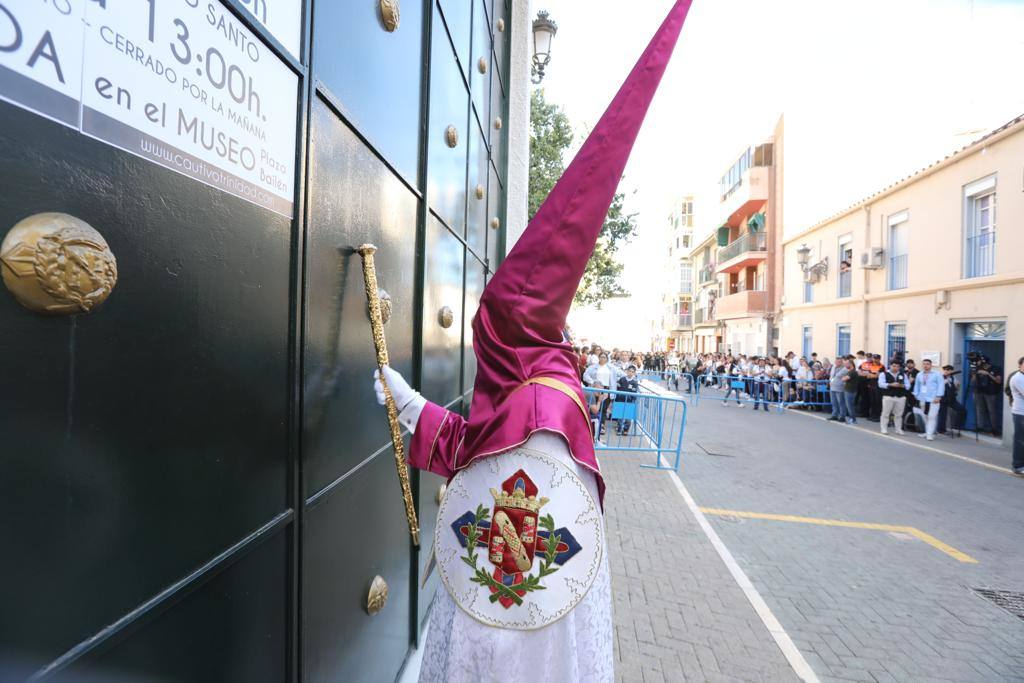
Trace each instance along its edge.
<path fill-rule="evenodd" d="M 782 120 L 771 137 L 750 146 L 720 180 L 715 272 L 716 316 L 726 351 L 774 352 L 781 300 Z"/>

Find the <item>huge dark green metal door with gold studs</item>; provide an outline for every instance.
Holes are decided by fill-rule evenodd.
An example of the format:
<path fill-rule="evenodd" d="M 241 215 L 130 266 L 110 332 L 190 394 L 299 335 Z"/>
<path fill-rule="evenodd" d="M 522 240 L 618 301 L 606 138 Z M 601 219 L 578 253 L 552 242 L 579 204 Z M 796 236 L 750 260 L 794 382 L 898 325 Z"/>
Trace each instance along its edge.
<path fill-rule="evenodd" d="M 58 10 L 92 12 L 113 53 L 118 32 L 100 33 L 97 12 L 124 1 L 42 3 L 48 15 L 0 0 L 0 240 L 61 212 L 96 228 L 118 268 L 89 313 L 42 315 L 0 290 L 0 680 L 392 680 L 437 590 L 422 572 L 443 482 L 413 474 L 417 551 L 352 248 L 379 249 L 392 365 L 464 412 L 469 324 L 503 253 L 508 7 L 406 0 L 393 28 L 386 3 L 295 0 L 293 36 L 247 13 L 259 3 L 213 2 L 262 69 L 288 76 L 256 93 L 264 111 L 294 112 L 262 131 L 279 146 L 295 131 L 294 189 L 269 210 L 217 162 L 182 168 L 178 147 L 140 153 L 116 141 L 117 121 L 82 115 L 69 84 L 88 63 L 67 42 L 82 23 Z M 176 85 L 199 74 L 210 89 L 223 58 L 223 101 L 253 106 L 231 69 L 245 54 L 208 51 L 215 27 L 162 0 L 124 6 L 143 19 L 157 8 L 161 78 L 173 67 Z M 27 80 L 30 60 L 57 59 L 65 90 Z M 170 91 L 108 80 L 82 91 L 161 121 L 146 105 Z M 200 103 L 216 114 L 213 101 Z M 190 119 L 172 124 L 202 144 Z M 371 615 L 375 577 L 388 600 Z"/>

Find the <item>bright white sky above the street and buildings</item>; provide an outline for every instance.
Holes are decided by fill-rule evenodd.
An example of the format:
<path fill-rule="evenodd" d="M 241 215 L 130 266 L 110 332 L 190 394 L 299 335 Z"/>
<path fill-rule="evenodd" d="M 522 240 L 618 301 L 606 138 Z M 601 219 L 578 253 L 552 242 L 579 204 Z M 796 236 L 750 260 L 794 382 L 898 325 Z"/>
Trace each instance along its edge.
<path fill-rule="evenodd" d="M 558 23 L 544 88 L 578 143 L 671 5 L 534 0 Z M 666 217 L 692 194 L 695 231 L 717 226 L 719 177 L 781 114 L 794 234 L 1024 113 L 1022 28 L 1024 0 L 694 0 L 621 187 L 639 213 L 633 300 L 570 324 L 646 348 Z"/>

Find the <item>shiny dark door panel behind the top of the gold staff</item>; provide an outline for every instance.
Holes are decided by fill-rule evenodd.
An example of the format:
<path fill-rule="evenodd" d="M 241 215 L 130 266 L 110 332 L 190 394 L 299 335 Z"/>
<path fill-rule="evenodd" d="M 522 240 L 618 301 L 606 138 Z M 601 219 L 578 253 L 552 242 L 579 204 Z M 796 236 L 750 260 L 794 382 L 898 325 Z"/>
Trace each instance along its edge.
<path fill-rule="evenodd" d="M 388 443 L 359 256 L 377 245 L 377 280 L 391 296 L 391 365 L 411 376 L 418 200 L 324 102 L 313 106 L 306 228 L 303 379 L 305 495 Z"/>

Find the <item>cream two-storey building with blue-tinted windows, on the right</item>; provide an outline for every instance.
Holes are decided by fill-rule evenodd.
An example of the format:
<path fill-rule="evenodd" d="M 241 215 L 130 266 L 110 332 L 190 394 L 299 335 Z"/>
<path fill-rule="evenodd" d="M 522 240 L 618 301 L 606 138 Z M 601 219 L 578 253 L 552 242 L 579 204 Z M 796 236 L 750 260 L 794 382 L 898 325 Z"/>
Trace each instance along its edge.
<path fill-rule="evenodd" d="M 969 354 L 1024 355 L 1022 177 L 1024 116 L 786 240 L 781 348 L 950 364 L 973 428 Z"/>

